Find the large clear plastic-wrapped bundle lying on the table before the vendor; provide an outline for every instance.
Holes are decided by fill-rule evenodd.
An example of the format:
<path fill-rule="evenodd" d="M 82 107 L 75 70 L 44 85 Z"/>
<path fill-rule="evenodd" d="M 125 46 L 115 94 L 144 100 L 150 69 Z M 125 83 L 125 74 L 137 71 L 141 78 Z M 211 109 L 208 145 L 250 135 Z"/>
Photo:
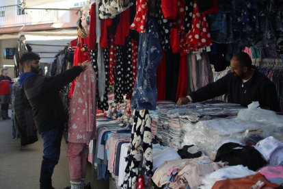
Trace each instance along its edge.
<path fill-rule="evenodd" d="M 196 124 L 185 124 L 186 133 L 183 145 L 194 144 L 206 155 L 215 158 L 217 149 L 224 142 L 243 144 L 247 137 L 247 130 L 257 130 L 257 123 L 237 120 L 236 118 L 215 118 L 208 121 L 199 121 Z"/>

